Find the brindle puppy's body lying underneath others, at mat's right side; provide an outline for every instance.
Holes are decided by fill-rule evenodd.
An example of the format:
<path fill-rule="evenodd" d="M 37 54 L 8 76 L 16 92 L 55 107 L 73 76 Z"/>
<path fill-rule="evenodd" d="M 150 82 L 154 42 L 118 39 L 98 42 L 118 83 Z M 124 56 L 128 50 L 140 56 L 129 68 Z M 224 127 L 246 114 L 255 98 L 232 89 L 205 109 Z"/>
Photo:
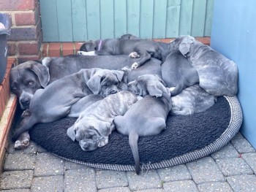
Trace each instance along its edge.
<path fill-rule="evenodd" d="M 217 97 L 207 93 L 196 84 L 185 88 L 177 96 L 172 96 L 171 100 L 173 107 L 170 114 L 192 115 L 208 110 L 217 101 Z"/>

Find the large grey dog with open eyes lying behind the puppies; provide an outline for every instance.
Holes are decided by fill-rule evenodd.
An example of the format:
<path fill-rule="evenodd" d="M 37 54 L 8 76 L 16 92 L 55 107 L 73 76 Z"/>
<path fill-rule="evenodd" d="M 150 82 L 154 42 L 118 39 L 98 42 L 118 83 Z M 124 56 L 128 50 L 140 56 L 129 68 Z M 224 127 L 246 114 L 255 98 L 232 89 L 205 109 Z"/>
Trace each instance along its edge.
<path fill-rule="evenodd" d="M 136 60 L 129 58 L 128 55 L 68 55 L 60 58 L 44 58 L 42 64 L 37 61 L 27 61 L 11 69 L 10 86 L 12 92 L 18 96 L 20 107 L 25 110 L 29 107 L 35 91 L 45 88 L 61 77 L 78 72 L 80 69 L 121 69 L 124 66 L 132 66 Z M 161 75 L 161 62 L 157 59 L 150 59 L 142 67 L 146 73 Z M 129 79 L 135 80 L 140 75 L 140 71 L 134 70 L 129 75 Z"/>

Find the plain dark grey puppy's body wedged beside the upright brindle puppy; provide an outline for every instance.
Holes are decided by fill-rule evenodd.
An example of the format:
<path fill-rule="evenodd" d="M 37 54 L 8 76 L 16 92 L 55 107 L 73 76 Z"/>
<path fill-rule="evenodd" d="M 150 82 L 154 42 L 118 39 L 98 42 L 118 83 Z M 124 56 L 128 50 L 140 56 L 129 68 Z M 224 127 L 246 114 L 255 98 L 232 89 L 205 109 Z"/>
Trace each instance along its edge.
<path fill-rule="evenodd" d="M 178 95 L 184 88 L 199 82 L 197 70 L 179 50 L 171 51 L 162 64 L 162 80 L 167 87 L 173 88 L 172 96 Z"/>

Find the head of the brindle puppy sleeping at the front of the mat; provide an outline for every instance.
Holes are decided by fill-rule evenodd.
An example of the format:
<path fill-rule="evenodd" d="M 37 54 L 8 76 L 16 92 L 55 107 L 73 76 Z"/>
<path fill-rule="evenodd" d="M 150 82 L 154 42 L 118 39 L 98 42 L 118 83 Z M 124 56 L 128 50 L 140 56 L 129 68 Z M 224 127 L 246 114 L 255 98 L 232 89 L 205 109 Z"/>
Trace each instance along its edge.
<path fill-rule="evenodd" d="M 85 151 L 106 145 L 109 134 L 110 123 L 92 118 L 82 118 L 67 130 L 67 135 Z"/>

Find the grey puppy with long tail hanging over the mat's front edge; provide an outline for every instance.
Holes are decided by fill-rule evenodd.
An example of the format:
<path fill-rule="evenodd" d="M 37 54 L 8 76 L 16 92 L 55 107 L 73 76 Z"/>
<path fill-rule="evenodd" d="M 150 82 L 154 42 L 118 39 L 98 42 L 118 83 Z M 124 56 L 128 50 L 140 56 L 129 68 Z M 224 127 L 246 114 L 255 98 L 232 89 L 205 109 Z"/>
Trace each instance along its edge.
<path fill-rule="evenodd" d="M 116 130 L 129 136 L 129 145 L 135 159 L 135 171 L 140 173 L 138 137 L 153 136 L 166 128 L 166 118 L 172 107 L 170 91 L 156 75 L 145 74 L 129 82 L 129 91 L 145 96 L 124 114 L 114 119 Z"/>

